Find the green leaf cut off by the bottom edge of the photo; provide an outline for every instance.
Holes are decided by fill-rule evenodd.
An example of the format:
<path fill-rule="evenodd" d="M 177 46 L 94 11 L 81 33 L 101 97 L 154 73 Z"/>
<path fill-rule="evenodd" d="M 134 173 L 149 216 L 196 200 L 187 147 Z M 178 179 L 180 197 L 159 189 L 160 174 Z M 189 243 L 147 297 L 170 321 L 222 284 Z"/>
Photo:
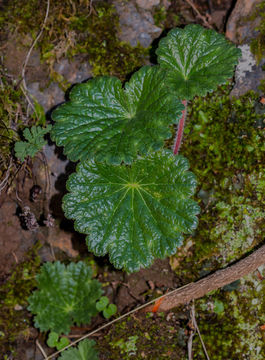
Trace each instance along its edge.
<path fill-rule="evenodd" d="M 63 351 L 59 360 L 98 360 L 98 352 L 94 349 L 95 341 L 85 339 L 77 349 L 70 348 Z"/>

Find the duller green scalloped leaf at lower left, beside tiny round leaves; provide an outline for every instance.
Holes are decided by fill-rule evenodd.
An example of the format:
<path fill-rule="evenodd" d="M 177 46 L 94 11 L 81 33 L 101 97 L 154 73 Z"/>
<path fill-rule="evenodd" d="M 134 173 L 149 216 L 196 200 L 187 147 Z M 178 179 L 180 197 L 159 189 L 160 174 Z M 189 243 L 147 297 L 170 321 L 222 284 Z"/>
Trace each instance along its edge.
<path fill-rule="evenodd" d="M 101 284 L 91 277 L 91 268 L 82 262 L 45 263 L 37 276 L 38 290 L 28 299 L 35 327 L 60 335 L 68 334 L 74 323 L 88 324 L 102 294 Z"/>

